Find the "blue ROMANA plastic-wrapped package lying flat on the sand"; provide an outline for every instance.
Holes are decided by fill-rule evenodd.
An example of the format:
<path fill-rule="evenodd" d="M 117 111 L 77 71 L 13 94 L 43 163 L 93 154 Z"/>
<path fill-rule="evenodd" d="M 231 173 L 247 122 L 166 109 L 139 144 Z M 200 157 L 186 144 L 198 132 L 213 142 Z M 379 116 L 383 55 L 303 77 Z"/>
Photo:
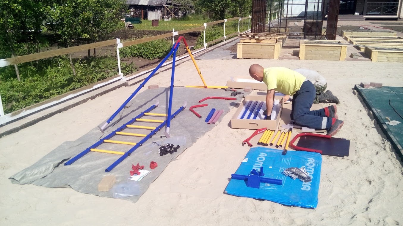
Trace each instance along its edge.
<path fill-rule="evenodd" d="M 263 177 L 280 179 L 283 181 L 283 185 L 260 183 L 260 188 L 256 189 L 247 187 L 246 181 L 231 179 L 225 193 L 239 197 L 269 200 L 284 205 L 316 208 L 322 155 L 302 151 L 289 151 L 286 155 L 281 155 L 281 152 L 281 150 L 271 148 L 251 148 L 235 174 L 248 175 L 252 169 L 260 171 L 260 167 L 263 166 Z M 286 168 L 301 168 L 302 166 L 305 166 L 310 174 L 311 182 L 303 183 L 299 179 L 293 180 L 291 177 L 282 174 Z"/>

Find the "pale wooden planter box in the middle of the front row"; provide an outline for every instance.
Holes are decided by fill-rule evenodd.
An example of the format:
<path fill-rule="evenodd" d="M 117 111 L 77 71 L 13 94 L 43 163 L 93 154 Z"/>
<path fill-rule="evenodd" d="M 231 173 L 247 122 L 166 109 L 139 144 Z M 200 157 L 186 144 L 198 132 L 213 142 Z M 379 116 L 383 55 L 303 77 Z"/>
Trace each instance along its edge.
<path fill-rule="evenodd" d="M 322 40 L 320 42 L 315 40 L 299 42 L 299 60 L 345 60 L 346 53 L 347 45 L 326 44 Z"/>

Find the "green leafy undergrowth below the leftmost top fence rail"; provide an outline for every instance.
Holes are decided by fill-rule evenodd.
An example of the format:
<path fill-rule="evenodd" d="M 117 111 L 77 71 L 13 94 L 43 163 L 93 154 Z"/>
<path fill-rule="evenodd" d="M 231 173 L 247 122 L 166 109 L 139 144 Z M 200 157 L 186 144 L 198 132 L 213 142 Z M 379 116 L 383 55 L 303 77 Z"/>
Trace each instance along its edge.
<path fill-rule="evenodd" d="M 73 62 L 76 76 L 73 75 L 66 56 L 41 60 L 42 67 L 39 69 L 29 63 L 20 64 L 21 82 L 17 80 L 13 66 L 0 68 L 0 93 L 4 113 L 17 111 L 118 74 L 114 57 L 74 59 Z M 124 74 L 136 71 L 134 64 L 121 66 Z"/>

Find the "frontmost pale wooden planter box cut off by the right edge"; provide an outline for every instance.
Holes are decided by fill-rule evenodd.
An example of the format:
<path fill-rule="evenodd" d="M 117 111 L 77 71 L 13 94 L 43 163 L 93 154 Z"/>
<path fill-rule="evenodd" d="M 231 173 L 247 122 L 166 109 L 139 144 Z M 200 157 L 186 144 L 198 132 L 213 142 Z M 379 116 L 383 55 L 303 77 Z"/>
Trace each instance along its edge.
<path fill-rule="evenodd" d="M 374 62 L 403 62 L 403 47 L 396 50 L 366 47 L 364 52 Z"/>

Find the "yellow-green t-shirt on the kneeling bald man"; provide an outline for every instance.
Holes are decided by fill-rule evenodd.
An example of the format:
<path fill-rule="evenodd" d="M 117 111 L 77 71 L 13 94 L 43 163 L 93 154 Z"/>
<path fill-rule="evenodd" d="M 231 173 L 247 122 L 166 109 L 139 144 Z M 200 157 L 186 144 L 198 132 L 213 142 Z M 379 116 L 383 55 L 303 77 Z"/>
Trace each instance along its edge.
<path fill-rule="evenodd" d="M 305 76 L 288 68 L 270 67 L 263 71 L 263 82 L 267 90 L 274 89 L 285 95 L 294 95 L 304 81 Z"/>

